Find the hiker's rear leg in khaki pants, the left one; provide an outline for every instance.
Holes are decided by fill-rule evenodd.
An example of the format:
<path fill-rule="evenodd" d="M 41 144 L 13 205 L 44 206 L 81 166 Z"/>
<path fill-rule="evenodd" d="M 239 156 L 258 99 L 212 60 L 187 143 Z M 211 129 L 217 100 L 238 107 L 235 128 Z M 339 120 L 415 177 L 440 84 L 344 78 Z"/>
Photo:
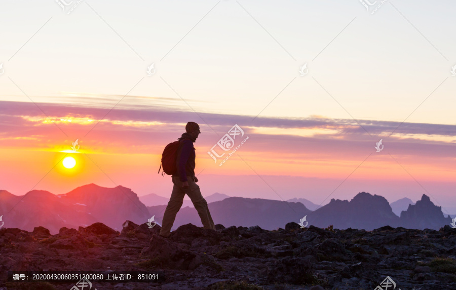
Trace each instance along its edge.
<path fill-rule="evenodd" d="M 160 235 L 168 237 L 171 233 L 171 227 L 174 224 L 176 219 L 176 214 L 179 211 L 183 203 L 183 198 L 185 192 L 182 190 L 182 182 L 179 180 L 179 177 L 173 177 L 173 191 L 169 199 L 168 205 L 165 209 L 165 214 L 163 215 L 162 229 L 160 230 Z"/>

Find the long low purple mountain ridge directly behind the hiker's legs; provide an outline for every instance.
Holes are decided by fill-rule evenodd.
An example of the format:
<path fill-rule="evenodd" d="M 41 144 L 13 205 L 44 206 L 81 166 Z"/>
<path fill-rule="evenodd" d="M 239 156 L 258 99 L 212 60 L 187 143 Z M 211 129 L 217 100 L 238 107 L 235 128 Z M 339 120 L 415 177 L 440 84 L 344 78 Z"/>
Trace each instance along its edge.
<path fill-rule="evenodd" d="M 267 230 L 283 228 L 289 222 L 299 222 L 303 216 L 311 212 L 300 202 L 244 197 L 229 197 L 211 202 L 208 207 L 215 224 L 222 224 L 225 227 L 259 226 Z M 165 208 L 165 205 L 147 207 L 151 215 L 156 214 L 155 219 L 160 224 L 163 221 Z M 198 227 L 203 226 L 195 208 L 181 207 L 172 229 L 188 223 Z"/>

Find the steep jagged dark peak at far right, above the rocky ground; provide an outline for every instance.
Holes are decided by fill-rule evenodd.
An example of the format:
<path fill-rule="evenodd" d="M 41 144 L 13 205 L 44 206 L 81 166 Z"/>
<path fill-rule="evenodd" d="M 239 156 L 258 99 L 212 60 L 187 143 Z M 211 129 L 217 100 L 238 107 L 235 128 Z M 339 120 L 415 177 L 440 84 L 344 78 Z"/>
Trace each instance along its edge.
<path fill-rule="evenodd" d="M 407 229 L 435 230 L 450 223 L 451 218 L 443 215 L 442 207 L 432 203 L 431 199 L 423 194 L 421 200 L 402 211 L 400 225 Z"/>

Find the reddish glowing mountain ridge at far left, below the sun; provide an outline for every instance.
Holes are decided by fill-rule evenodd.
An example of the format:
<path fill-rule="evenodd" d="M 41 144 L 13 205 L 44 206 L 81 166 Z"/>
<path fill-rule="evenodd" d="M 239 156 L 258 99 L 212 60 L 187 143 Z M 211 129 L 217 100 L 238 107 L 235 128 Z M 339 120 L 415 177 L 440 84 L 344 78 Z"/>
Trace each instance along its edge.
<path fill-rule="evenodd" d="M 0 191 L 0 210 L 4 227 L 33 231 L 34 227 L 44 226 L 51 233 L 58 233 L 62 227 L 78 229 L 96 222 L 122 230 L 126 220 L 143 224 L 150 218 L 147 208 L 131 189 L 95 184 L 61 195 L 33 190 L 15 196 Z"/>

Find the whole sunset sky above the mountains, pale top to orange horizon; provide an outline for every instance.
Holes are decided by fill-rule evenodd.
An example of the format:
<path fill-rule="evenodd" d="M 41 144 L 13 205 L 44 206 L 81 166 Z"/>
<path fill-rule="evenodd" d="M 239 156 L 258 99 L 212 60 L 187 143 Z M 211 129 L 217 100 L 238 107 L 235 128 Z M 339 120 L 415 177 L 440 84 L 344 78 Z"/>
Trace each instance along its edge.
<path fill-rule="evenodd" d="M 0 189 L 168 197 L 161 154 L 193 121 L 203 196 L 456 213 L 456 3 L 69 2 L 0 3 Z"/>

